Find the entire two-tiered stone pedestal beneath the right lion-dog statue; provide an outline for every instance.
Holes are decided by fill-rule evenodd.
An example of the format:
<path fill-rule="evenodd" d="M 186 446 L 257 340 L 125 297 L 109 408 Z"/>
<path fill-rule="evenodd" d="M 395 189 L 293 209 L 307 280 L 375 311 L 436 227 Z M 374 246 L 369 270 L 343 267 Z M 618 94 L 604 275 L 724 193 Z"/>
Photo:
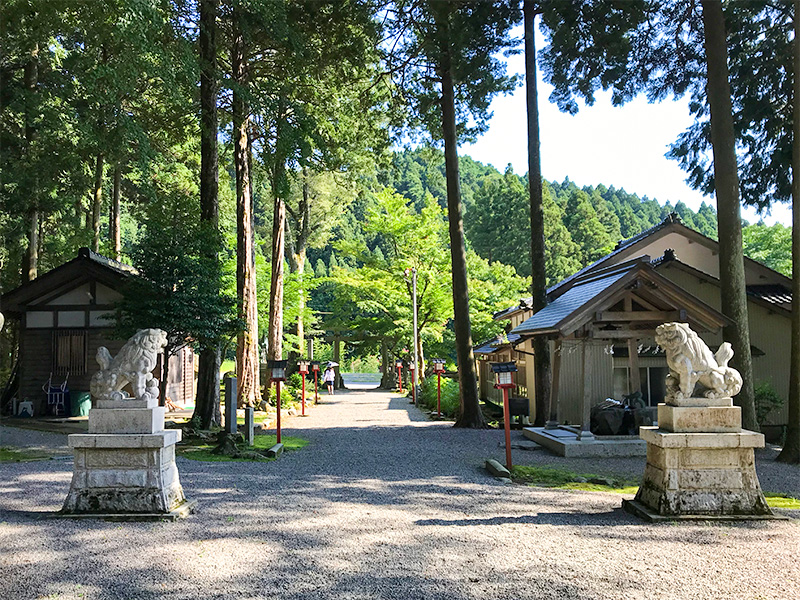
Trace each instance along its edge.
<path fill-rule="evenodd" d="M 647 465 L 629 512 L 650 520 L 772 516 L 755 470 L 764 436 L 742 430 L 730 398 L 660 404 L 659 427 L 642 427 Z"/>

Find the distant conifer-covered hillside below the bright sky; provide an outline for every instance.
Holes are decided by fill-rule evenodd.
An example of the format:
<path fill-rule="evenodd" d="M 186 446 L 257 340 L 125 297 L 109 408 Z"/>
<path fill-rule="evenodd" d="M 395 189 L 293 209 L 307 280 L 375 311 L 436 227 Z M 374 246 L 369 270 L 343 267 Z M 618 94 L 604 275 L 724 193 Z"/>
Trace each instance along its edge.
<path fill-rule="evenodd" d="M 517 175 L 510 167 L 500 173 L 468 156 L 461 157 L 460 175 L 464 227 L 472 250 L 489 262 L 513 266 L 520 276 L 529 277 L 527 175 Z M 395 190 L 417 210 L 424 206 L 427 194 L 444 208 L 444 155 L 430 147 L 395 152 L 390 163 L 378 172 L 377 186 Z M 363 237 L 359 223 L 368 203 L 362 195 L 345 211 L 342 223 L 335 227 L 334 239 Z M 619 240 L 657 225 L 671 212 L 678 213 L 684 223 L 700 233 L 712 238 L 717 235 L 716 212 L 708 204 L 703 203 L 695 212 L 683 202 L 675 206 L 659 204 L 613 185 L 579 188 L 569 179 L 560 183 L 546 181 L 544 203 L 550 284 L 610 252 Z M 333 245 L 313 249 L 310 256 L 318 274 L 327 272 L 331 261 L 338 265 L 352 260 L 337 254 Z"/>

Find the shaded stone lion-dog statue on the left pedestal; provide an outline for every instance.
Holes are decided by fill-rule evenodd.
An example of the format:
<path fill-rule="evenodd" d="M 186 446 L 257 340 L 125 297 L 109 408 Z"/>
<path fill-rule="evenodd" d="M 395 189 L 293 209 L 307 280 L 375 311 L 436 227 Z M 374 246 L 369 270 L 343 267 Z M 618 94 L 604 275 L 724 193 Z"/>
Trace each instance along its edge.
<path fill-rule="evenodd" d="M 90 385 L 92 397 L 98 400 L 123 400 L 122 388 L 130 384 L 133 398 L 158 398 L 158 379 L 153 377 L 158 355 L 167 345 L 167 334 L 160 329 L 142 329 L 125 342 L 116 356 L 108 348 L 97 350 L 100 371 Z"/>

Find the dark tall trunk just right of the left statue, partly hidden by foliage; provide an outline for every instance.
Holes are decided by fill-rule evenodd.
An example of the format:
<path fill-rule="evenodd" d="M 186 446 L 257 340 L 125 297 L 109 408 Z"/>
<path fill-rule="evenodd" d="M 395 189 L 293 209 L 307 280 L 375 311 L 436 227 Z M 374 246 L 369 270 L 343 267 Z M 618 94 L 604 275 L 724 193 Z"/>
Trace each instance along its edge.
<path fill-rule="evenodd" d="M 217 155 L 217 11 L 219 0 L 200 0 L 200 220 L 219 236 L 219 158 Z M 216 250 L 206 257 L 219 267 Z M 218 268 L 213 269 L 216 273 Z M 220 341 L 203 340 L 197 365 L 194 415 L 208 429 L 222 422 L 219 406 Z"/>

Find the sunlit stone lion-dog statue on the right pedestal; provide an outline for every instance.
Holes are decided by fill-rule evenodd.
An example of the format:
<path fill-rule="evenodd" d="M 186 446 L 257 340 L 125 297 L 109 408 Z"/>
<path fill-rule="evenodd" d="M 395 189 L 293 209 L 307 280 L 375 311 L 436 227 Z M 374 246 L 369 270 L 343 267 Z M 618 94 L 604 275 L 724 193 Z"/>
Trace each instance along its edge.
<path fill-rule="evenodd" d="M 733 357 L 728 342 L 713 354 L 686 323 L 664 323 L 656 328 L 656 343 L 667 353 L 667 403 L 691 398 L 697 384 L 706 398 L 732 398 L 742 389 L 742 376 L 728 366 Z"/>

